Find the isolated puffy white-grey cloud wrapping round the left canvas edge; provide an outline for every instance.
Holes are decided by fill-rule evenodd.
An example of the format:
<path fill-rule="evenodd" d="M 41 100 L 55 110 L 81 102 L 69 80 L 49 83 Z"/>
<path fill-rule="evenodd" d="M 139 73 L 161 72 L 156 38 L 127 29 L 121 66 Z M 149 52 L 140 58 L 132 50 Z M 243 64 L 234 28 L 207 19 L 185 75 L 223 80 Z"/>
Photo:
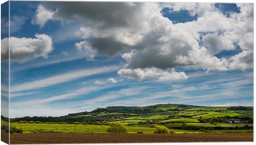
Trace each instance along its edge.
<path fill-rule="evenodd" d="M 17 38 L 10 37 L 1 40 L 1 59 L 7 60 L 9 57 L 10 41 L 10 59 L 19 63 L 32 60 L 38 57 L 45 57 L 52 51 L 52 38 L 45 34 L 36 34 L 36 38 Z"/>

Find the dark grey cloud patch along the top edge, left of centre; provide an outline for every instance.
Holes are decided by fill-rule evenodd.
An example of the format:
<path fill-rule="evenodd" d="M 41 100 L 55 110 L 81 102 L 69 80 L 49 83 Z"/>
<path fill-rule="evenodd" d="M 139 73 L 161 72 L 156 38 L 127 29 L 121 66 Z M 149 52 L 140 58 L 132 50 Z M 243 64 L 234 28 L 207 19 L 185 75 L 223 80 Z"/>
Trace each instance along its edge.
<path fill-rule="evenodd" d="M 47 9 L 57 9 L 54 19 L 76 20 L 104 27 L 130 26 L 140 21 L 144 3 L 137 2 L 43 2 Z"/>

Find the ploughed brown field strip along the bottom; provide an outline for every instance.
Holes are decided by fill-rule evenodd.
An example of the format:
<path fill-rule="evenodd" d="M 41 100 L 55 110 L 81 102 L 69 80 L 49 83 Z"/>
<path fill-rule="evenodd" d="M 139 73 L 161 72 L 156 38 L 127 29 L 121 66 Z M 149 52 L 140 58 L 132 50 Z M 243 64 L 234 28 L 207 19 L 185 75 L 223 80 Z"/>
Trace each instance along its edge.
<path fill-rule="evenodd" d="M 38 143 L 160 143 L 253 141 L 253 133 L 119 134 L 119 133 L 14 133 L 11 144 Z"/>

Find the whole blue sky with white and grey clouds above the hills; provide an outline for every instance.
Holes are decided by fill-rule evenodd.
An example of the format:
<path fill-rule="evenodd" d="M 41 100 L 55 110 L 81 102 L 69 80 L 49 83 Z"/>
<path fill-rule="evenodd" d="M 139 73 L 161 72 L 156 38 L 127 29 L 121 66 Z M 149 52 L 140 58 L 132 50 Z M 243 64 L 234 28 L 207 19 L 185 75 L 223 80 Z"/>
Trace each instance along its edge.
<path fill-rule="evenodd" d="M 253 105 L 253 4 L 10 1 L 10 12 L 11 118 Z"/>

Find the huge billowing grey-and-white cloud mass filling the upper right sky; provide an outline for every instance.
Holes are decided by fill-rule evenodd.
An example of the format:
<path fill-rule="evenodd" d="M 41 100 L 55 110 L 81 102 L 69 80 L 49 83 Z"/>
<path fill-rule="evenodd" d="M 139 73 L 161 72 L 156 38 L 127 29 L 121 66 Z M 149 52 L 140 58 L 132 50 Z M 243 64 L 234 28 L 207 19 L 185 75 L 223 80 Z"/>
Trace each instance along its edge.
<path fill-rule="evenodd" d="M 251 57 L 253 46 L 247 39 L 253 30 L 252 6 L 238 5 L 241 13 L 227 17 L 210 3 L 43 2 L 38 6 L 35 23 L 40 26 L 48 20 L 81 23 L 83 27 L 76 32 L 82 39 L 76 43 L 78 51 L 84 51 L 90 58 L 121 55 L 127 65 L 119 74 L 129 78 L 167 74 L 170 80 L 166 70 L 177 66 L 207 71 L 251 68 L 252 60 L 246 56 Z M 163 7 L 188 10 L 191 15 L 198 14 L 198 19 L 173 24 L 161 15 Z M 222 34 L 218 35 L 219 32 Z M 202 40 L 201 33 L 206 34 Z M 230 58 L 215 56 L 223 50 L 235 49 L 235 42 L 242 53 Z M 184 74 L 182 76 L 176 78 L 185 78 Z"/>

